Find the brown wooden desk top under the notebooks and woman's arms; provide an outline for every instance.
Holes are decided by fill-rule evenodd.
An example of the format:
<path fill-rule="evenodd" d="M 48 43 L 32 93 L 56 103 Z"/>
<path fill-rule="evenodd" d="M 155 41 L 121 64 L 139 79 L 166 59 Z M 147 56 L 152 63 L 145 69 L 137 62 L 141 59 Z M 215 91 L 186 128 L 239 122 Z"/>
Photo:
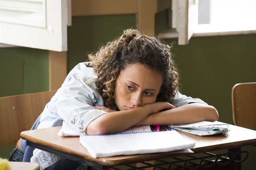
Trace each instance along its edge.
<path fill-rule="evenodd" d="M 148 160 L 176 157 L 191 154 L 191 152 L 163 152 L 154 154 L 138 154 L 128 156 L 112 156 L 106 158 L 92 158 L 88 151 L 80 144 L 79 137 L 60 137 L 57 135 L 61 127 L 37 129 L 24 131 L 20 134 L 22 139 L 32 143 L 43 145 L 50 149 L 72 154 L 78 158 L 83 158 L 103 166 L 116 166 L 120 164 L 131 164 Z M 184 138 L 195 141 L 194 153 L 210 152 L 214 150 L 256 145 L 256 131 L 242 127 L 230 125 L 228 136 L 210 135 L 197 136 L 178 131 Z"/>

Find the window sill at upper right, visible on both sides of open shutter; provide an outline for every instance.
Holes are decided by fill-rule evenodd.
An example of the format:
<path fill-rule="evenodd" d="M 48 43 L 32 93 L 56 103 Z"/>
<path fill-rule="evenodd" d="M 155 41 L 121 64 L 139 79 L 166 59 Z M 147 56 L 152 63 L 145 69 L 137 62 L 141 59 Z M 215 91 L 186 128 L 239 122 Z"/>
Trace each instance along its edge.
<path fill-rule="evenodd" d="M 199 24 L 192 37 L 211 37 L 222 35 L 243 35 L 243 34 L 255 34 L 256 27 L 238 27 L 233 25 L 218 26 L 213 24 Z M 162 39 L 178 38 L 178 32 L 176 29 L 165 29 L 158 33 L 158 37 Z"/>

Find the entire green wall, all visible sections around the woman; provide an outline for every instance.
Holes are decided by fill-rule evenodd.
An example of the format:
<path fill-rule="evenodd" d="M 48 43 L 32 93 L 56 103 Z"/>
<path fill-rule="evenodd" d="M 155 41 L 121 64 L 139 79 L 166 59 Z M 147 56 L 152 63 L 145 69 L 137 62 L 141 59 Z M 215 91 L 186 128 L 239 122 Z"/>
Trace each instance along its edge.
<path fill-rule="evenodd" d="M 156 14 L 156 33 L 167 26 L 167 14 Z M 136 27 L 135 15 L 72 17 L 72 26 L 68 27 L 68 71 L 130 27 Z M 256 34 L 193 37 L 188 45 L 175 43 L 172 52 L 180 69 L 181 92 L 216 107 L 219 121 L 232 124 L 231 89 L 236 83 L 256 81 L 255 47 Z M 0 96 L 47 91 L 48 79 L 47 50 L 0 49 Z M 7 151 L 1 148 L 0 157 L 6 157 L 10 150 L 12 147 Z M 242 164 L 243 169 L 250 169 L 256 147 L 242 150 L 250 151 L 249 159 Z"/>

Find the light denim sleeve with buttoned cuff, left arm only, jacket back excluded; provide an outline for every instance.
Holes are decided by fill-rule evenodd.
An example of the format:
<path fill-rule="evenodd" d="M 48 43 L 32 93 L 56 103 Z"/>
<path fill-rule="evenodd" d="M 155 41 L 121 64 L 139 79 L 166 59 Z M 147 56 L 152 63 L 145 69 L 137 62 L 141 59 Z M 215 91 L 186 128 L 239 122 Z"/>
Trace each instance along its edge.
<path fill-rule="evenodd" d="M 106 113 L 92 106 L 103 106 L 100 94 L 92 88 L 96 79 L 89 79 L 82 74 L 72 74 L 62 85 L 59 95 L 52 105 L 63 120 L 80 132 L 86 131 L 88 124 Z"/>

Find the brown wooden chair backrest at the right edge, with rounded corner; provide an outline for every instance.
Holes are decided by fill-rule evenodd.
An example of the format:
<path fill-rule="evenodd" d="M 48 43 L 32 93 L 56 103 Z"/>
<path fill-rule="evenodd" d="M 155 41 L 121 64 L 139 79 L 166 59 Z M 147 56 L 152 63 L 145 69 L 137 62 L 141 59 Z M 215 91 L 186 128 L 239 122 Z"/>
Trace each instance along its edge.
<path fill-rule="evenodd" d="M 235 125 L 256 129 L 256 82 L 233 86 L 232 110 Z"/>

